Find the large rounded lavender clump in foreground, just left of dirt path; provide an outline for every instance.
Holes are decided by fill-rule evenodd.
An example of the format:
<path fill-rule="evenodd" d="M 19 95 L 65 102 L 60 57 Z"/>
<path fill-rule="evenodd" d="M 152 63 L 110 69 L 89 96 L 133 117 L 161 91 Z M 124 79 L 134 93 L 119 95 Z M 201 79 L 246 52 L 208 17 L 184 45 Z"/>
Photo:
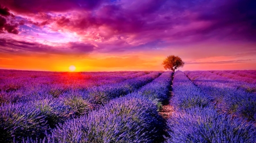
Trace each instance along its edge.
<path fill-rule="evenodd" d="M 60 124 L 52 136 L 58 142 L 153 142 L 163 124 L 156 110 L 152 101 L 133 94 Z"/>

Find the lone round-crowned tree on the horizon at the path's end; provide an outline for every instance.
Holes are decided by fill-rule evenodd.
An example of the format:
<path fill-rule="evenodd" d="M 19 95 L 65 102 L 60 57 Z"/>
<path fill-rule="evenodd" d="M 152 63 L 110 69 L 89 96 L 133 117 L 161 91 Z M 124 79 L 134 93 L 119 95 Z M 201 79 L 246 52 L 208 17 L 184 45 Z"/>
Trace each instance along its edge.
<path fill-rule="evenodd" d="M 183 67 L 185 63 L 180 57 L 169 55 L 166 59 L 164 59 L 162 64 L 166 70 L 169 69 L 175 72 L 177 68 Z"/>

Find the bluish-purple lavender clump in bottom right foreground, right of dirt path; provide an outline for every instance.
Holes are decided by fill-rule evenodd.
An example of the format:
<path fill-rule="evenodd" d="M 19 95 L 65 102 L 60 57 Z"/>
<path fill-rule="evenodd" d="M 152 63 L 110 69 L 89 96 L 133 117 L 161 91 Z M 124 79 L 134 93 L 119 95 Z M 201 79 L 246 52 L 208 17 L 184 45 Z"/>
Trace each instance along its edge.
<path fill-rule="evenodd" d="M 195 107 L 176 112 L 168 119 L 170 138 L 166 142 L 246 142 L 256 141 L 252 123 L 220 115 L 213 107 Z"/>

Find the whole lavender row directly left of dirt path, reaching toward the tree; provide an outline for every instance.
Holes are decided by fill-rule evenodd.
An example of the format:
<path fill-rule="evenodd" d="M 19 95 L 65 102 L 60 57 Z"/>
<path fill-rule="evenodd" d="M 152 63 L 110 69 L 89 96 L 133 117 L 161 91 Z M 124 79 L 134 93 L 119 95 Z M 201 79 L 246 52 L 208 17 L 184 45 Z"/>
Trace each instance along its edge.
<path fill-rule="evenodd" d="M 44 140 L 22 142 L 155 142 L 163 140 L 158 103 L 168 98 L 172 72 L 164 72 L 136 92 L 115 98 L 99 110 L 67 120 Z M 18 142 L 18 141 L 17 141 Z"/>

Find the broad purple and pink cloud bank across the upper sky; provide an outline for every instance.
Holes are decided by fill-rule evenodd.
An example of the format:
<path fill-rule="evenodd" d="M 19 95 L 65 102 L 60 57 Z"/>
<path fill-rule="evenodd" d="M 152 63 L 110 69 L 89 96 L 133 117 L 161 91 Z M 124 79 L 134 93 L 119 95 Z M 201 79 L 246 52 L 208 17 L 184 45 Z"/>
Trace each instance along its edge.
<path fill-rule="evenodd" d="M 24 24 L 45 27 L 46 31 L 73 32 L 81 37 L 79 45 L 85 43 L 73 50 L 92 51 L 93 46 L 87 46 L 90 42 L 109 52 L 158 49 L 207 40 L 256 41 L 256 2 L 252 0 L 0 0 L 0 3 L 2 16 L 10 16 L 11 10 L 15 15 L 32 19 L 11 24 L 10 19 L 1 17 L 0 32 L 17 34 L 19 25 Z M 72 42 L 67 41 L 71 48 Z"/>

